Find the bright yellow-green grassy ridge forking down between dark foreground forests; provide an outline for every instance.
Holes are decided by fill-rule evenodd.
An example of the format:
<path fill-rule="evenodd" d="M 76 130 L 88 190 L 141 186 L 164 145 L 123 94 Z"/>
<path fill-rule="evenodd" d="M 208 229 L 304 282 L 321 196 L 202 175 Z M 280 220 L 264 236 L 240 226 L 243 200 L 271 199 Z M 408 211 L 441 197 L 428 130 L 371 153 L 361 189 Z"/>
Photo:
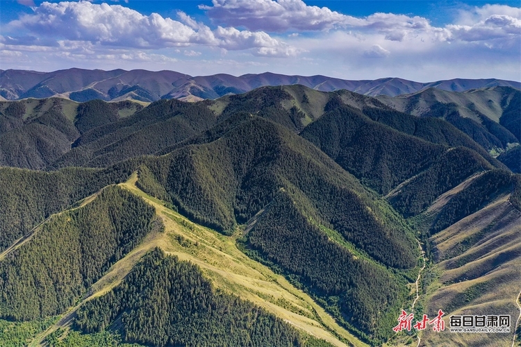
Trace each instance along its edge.
<path fill-rule="evenodd" d="M 213 283 L 212 286 L 215 286 L 215 288 L 222 289 L 225 293 L 238 295 L 242 299 L 246 299 L 263 307 L 263 310 L 266 310 L 266 312 L 271 312 L 270 314 L 275 314 L 279 319 L 292 323 L 292 326 L 299 328 L 299 330 L 306 332 L 306 334 L 325 339 L 336 346 L 345 346 L 345 344 L 365 346 L 345 329 L 340 328 L 331 316 L 326 314 L 324 310 L 313 302 L 309 296 L 304 294 L 304 292 L 292 287 L 282 276 L 276 275 L 266 266 L 250 260 L 244 253 L 239 251 L 235 245 L 236 237 L 224 237 L 213 230 L 198 226 L 180 214 L 165 208 L 165 203 L 147 196 L 135 187 L 135 185 L 133 185 L 135 179 L 136 176 L 134 175 L 129 182 L 121 186 L 141 196 L 148 204 L 154 206 L 156 215 L 164 223 L 163 231 L 156 229 L 149 232 L 138 246 L 111 266 L 103 277 L 92 284 L 92 287 L 82 291 L 81 295 L 83 298 L 79 301 L 79 304 L 75 305 L 72 311 L 68 310 L 65 312 L 64 307 L 62 310 L 62 312 L 65 312 L 63 318 L 59 319 L 56 325 L 53 325 L 44 332 L 44 334 L 38 335 L 35 339 L 36 342 L 45 341 L 45 339 L 50 338 L 51 335 L 63 335 L 63 333 L 60 333 L 60 331 L 56 329 L 65 328 L 65 330 L 67 330 L 72 326 L 71 324 L 74 325 L 74 317 L 76 316 L 74 312 L 76 312 L 78 308 L 81 310 L 83 303 L 90 301 L 91 298 L 98 298 L 110 293 L 112 289 L 122 283 L 122 280 L 128 273 L 134 271 L 133 268 L 135 264 L 138 264 L 142 255 L 154 247 L 160 247 L 167 251 L 167 254 L 177 255 L 180 260 L 190 260 L 192 264 L 199 266 L 203 269 L 205 277 L 210 278 Z M 106 189 L 104 189 L 103 192 L 105 192 Z M 103 192 L 101 194 L 104 194 Z M 127 196 L 127 199 L 132 201 L 134 198 Z M 96 204 L 98 200 L 99 197 L 97 196 L 86 199 L 81 204 L 83 207 L 78 211 L 84 208 L 90 208 L 90 205 Z M 129 213 L 136 214 L 136 217 L 139 215 L 138 212 L 133 210 L 129 211 Z M 52 221 L 58 219 L 56 223 L 59 223 L 60 216 L 64 214 L 68 215 L 69 212 L 63 212 L 63 214 L 53 217 Z M 85 217 L 90 217 L 90 214 L 85 214 Z M 46 224 L 44 224 L 44 226 L 45 225 Z M 38 238 L 38 234 L 35 234 L 35 238 Z M 36 239 L 36 241 L 38 241 L 38 239 Z M 31 242 L 35 242 L 35 239 L 31 239 L 26 247 L 31 248 Z M 34 246 L 35 245 L 32 247 Z M 56 255 L 60 257 L 60 251 L 56 252 Z M 49 261 L 52 262 L 53 260 Z M 25 260 L 25 262 L 30 261 Z M 68 262 L 65 261 L 63 264 L 68 264 Z M 153 280 L 157 281 L 158 278 L 161 278 L 161 276 L 154 274 Z M 29 285 L 27 290 L 31 290 L 31 287 L 32 286 Z M 182 288 L 182 290 L 190 290 L 190 287 Z M 231 306 L 232 309 L 234 305 L 235 304 Z M 140 309 L 142 309 L 142 307 Z M 158 307 L 158 310 L 163 309 L 164 307 Z M 107 309 L 102 310 L 102 312 L 110 314 L 113 310 Z M 158 314 L 165 315 L 168 314 L 168 312 L 158 312 Z M 266 317 L 261 319 L 259 323 L 265 321 L 265 319 Z M 238 317 L 238 321 L 242 321 L 242 319 Z M 83 319 L 83 323 L 85 323 L 85 319 Z M 78 324 L 81 325 L 82 323 Z M 104 326 L 108 327 L 108 325 Z M 92 327 L 86 328 L 86 325 L 81 326 L 88 331 L 92 331 L 90 330 Z M 138 328 L 129 328 L 128 326 L 126 329 L 131 329 L 128 330 L 129 333 L 135 334 L 139 331 Z M 281 330 L 281 328 L 278 329 Z M 159 332 L 160 330 L 154 331 Z M 263 330 L 261 329 L 260 331 Z M 252 331 L 251 334 L 253 336 L 254 332 Z M 315 346 L 311 344 L 311 340 L 309 337 L 306 337 L 306 334 L 302 335 L 302 333 L 298 333 L 295 335 L 299 338 L 299 341 L 301 341 L 298 345 L 300 346 L 306 343 L 307 346 L 309 343 L 310 346 Z M 263 336 L 269 335 L 270 334 L 264 334 Z M 276 335 L 273 336 L 276 337 Z M 138 341 L 143 340 L 138 339 Z"/>

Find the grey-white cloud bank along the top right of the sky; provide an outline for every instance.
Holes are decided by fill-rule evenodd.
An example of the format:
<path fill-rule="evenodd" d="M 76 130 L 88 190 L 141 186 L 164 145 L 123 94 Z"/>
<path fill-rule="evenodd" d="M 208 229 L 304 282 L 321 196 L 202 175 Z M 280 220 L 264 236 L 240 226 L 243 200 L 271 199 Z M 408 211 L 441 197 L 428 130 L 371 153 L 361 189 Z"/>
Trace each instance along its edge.
<path fill-rule="evenodd" d="M 521 36 L 521 8 L 486 5 L 461 10 L 458 21 L 445 27 L 432 26 L 427 18 L 374 13 L 356 18 L 329 8 L 307 6 L 302 0 L 213 0 L 212 6 L 199 6 L 220 24 L 244 26 L 249 30 L 324 31 L 354 30 L 380 34 L 386 40 L 402 42 L 421 35 L 436 42 L 477 42 Z"/>

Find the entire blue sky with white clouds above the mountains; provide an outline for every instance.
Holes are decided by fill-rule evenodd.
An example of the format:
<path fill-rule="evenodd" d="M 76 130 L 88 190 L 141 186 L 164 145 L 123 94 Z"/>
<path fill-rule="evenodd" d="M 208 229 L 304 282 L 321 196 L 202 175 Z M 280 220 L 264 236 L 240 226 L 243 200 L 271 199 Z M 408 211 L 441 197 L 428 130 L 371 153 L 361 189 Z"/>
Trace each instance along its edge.
<path fill-rule="evenodd" d="M 0 69 L 521 81 L 520 1 L 0 0 Z"/>

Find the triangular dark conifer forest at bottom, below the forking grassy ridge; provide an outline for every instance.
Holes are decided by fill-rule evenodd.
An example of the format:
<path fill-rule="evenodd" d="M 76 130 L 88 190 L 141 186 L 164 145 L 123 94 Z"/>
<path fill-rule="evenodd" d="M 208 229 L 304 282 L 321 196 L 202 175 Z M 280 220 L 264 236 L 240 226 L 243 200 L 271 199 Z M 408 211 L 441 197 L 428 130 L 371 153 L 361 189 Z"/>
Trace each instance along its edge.
<path fill-rule="evenodd" d="M 97 332 L 117 322 L 125 341 L 153 346 L 304 346 L 299 332 L 261 307 L 216 292 L 198 266 L 156 248 L 121 284 L 78 310 Z"/>

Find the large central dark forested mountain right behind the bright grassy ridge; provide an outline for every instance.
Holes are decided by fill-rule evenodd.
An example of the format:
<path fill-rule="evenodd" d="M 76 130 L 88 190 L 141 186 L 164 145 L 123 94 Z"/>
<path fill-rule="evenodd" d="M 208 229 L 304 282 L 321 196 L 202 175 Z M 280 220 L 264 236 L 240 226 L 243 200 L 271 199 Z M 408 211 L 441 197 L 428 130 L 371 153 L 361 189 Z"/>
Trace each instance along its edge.
<path fill-rule="evenodd" d="M 248 117 L 213 142 L 150 158 L 146 166 L 142 189 L 225 234 L 265 208 L 243 241 L 248 254 L 324 300 L 365 339 L 389 335 L 408 281 L 390 268 L 416 266 L 413 235 L 385 201 L 312 144 Z M 354 251 L 329 240 L 322 227 Z"/>

